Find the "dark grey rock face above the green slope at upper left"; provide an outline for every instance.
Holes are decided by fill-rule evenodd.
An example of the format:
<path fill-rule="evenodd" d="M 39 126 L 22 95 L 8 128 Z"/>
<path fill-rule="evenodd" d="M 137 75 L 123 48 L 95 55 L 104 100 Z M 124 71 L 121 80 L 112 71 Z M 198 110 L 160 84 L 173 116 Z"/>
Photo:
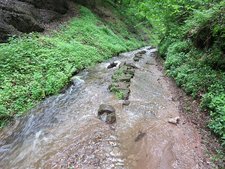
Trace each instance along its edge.
<path fill-rule="evenodd" d="M 0 42 L 11 35 L 42 32 L 68 9 L 64 0 L 0 0 Z"/>

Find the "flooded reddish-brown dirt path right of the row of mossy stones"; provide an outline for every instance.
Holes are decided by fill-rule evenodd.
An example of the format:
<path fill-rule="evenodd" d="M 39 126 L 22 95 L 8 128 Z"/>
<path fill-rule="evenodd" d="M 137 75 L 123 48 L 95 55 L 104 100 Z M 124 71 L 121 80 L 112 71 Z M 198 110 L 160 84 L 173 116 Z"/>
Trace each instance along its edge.
<path fill-rule="evenodd" d="M 129 168 L 207 168 L 203 163 L 201 136 L 180 116 L 172 82 L 159 70 L 154 57 L 146 56 L 138 66 L 141 69 L 131 83 L 131 104 L 123 109 L 121 117 L 132 127 L 119 131 Z M 178 117 L 177 125 L 169 123 Z M 144 136 L 135 142 L 139 133 Z"/>

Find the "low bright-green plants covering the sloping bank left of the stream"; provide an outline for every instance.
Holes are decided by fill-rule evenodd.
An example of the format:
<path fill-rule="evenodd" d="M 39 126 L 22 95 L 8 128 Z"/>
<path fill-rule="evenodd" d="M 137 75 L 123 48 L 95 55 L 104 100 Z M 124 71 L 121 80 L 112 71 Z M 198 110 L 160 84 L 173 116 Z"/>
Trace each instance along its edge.
<path fill-rule="evenodd" d="M 57 94 L 75 72 L 142 46 L 127 27 L 117 18 L 104 22 L 81 7 L 60 31 L 0 44 L 0 127 Z"/>

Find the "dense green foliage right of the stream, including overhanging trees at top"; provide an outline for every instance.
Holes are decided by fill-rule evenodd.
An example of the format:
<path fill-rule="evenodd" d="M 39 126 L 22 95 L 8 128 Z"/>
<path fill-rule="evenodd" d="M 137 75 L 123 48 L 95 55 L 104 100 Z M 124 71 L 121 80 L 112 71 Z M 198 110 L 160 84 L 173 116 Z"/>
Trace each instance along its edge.
<path fill-rule="evenodd" d="M 121 3 L 128 13 L 150 21 L 167 73 L 188 94 L 201 99 L 202 109 L 210 112 L 209 127 L 225 145 L 225 1 Z"/>

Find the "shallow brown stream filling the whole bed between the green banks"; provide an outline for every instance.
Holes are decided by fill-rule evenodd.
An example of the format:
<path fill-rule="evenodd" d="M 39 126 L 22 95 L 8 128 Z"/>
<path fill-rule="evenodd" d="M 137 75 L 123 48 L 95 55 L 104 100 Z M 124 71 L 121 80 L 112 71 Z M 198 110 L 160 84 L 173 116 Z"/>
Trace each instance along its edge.
<path fill-rule="evenodd" d="M 134 61 L 135 54 L 142 56 Z M 150 47 L 84 70 L 72 85 L 0 133 L 2 169 L 207 169 L 201 136 L 179 113 L 176 89 Z M 116 61 L 116 62 L 115 62 Z M 109 63 L 118 63 L 108 69 Z M 135 65 L 129 104 L 110 93 L 122 63 Z M 97 117 L 101 104 L 116 122 Z"/>

